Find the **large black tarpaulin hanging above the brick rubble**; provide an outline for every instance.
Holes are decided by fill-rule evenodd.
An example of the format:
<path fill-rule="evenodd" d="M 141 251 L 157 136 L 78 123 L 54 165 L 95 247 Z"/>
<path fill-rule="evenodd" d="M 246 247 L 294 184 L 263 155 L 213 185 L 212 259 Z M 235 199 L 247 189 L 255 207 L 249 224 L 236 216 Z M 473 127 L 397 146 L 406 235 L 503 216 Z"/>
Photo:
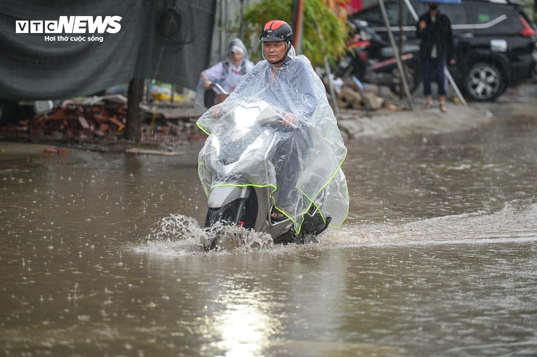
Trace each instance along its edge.
<path fill-rule="evenodd" d="M 72 98 L 128 82 L 133 77 L 155 78 L 195 89 L 199 74 L 209 61 L 215 3 L 2 0 L 0 98 Z M 63 16 L 88 16 L 92 22 L 97 22 L 99 16 L 120 16 L 121 28 L 117 33 L 88 33 L 88 23 L 82 22 L 84 26 L 79 28 L 85 33 L 16 33 L 17 21 L 43 21 L 45 32 L 46 20 L 59 21 Z M 26 26 L 40 30 L 39 24 L 32 26 L 28 22 Z M 86 40 L 58 41 L 58 35 Z M 56 40 L 46 41 L 47 36 Z M 102 42 L 87 40 L 92 36 L 101 37 Z"/>

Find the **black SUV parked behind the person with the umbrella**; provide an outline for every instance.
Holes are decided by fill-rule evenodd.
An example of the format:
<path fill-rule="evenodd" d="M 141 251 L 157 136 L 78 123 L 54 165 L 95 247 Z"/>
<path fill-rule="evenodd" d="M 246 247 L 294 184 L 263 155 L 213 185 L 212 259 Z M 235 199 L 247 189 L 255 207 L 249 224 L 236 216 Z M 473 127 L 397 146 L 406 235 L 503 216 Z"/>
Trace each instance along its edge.
<path fill-rule="evenodd" d="M 388 0 L 386 10 L 396 39 L 400 33 L 400 1 Z M 428 5 L 401 0 L 403 40 L 418 44 L 416 16 Z M 506 87 L 535 75 L 537 32 L 523 12 L 521 3 L 507 0 L 463 0 L 462 4 L 441 4 L 452 23 L 457 64 L 450 68 L 459 88 L 472 100 L 494 100 Z M 388 38 L 379 5 L 352 15 Z"/>

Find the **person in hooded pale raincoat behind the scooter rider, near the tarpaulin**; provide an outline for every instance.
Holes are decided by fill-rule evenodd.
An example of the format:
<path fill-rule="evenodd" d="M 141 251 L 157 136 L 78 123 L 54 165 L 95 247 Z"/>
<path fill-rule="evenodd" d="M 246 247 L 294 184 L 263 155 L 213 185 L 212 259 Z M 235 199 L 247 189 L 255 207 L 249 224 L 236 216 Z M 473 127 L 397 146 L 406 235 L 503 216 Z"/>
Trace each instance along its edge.
<path fill-rule="evenodd" d="M 204 103 L 205 91 L 213 88 L 214 83 L 220 84 L 224 91 L 231 93 L 253 68 L 253 62 L 249 60 L 248 51 L 240 39 L 234 39 L 229 43 L 227 57 L 227 60 L 201 72 L 195 100 L 203 110 L 207 110 Z M 216 104 L 222 103 L 227 97 L 228 94 L 217 91 Z"/>

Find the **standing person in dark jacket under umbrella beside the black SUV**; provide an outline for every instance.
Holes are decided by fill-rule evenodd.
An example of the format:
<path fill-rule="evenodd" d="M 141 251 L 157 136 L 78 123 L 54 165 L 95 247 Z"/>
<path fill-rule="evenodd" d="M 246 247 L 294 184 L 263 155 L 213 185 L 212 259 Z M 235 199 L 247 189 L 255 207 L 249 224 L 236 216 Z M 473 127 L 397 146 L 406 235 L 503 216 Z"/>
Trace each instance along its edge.
<path fill-rule="evenodd" d="M 417 28 L 417 37 L 422 40 L 419 54 L 422 64 L 423 94 L 427 97 L 426 108 L 432 107 L 431 82 L 436 80 L 440 111 L 447 113 L 447 78 L 444 69 L 447 61 L 449 64 L 455 64 L 451 21 L 445 14 L 440 13 L 438 3 L 429 3 L 429 11 L 419 18 Z"/>

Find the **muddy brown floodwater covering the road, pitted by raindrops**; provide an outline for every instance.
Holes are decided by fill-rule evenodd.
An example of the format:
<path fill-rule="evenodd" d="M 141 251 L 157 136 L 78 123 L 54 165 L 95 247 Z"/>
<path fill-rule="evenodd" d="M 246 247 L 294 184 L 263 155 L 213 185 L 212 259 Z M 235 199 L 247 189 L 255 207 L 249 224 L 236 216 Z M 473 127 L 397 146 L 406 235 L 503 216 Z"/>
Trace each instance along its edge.
<path fill-rule="evenodd" d="M 341 229 L 205 253 L 201 143 L 0 143 L 0 355 L 536 355 L 537 120 L 346 144 Z"/>

